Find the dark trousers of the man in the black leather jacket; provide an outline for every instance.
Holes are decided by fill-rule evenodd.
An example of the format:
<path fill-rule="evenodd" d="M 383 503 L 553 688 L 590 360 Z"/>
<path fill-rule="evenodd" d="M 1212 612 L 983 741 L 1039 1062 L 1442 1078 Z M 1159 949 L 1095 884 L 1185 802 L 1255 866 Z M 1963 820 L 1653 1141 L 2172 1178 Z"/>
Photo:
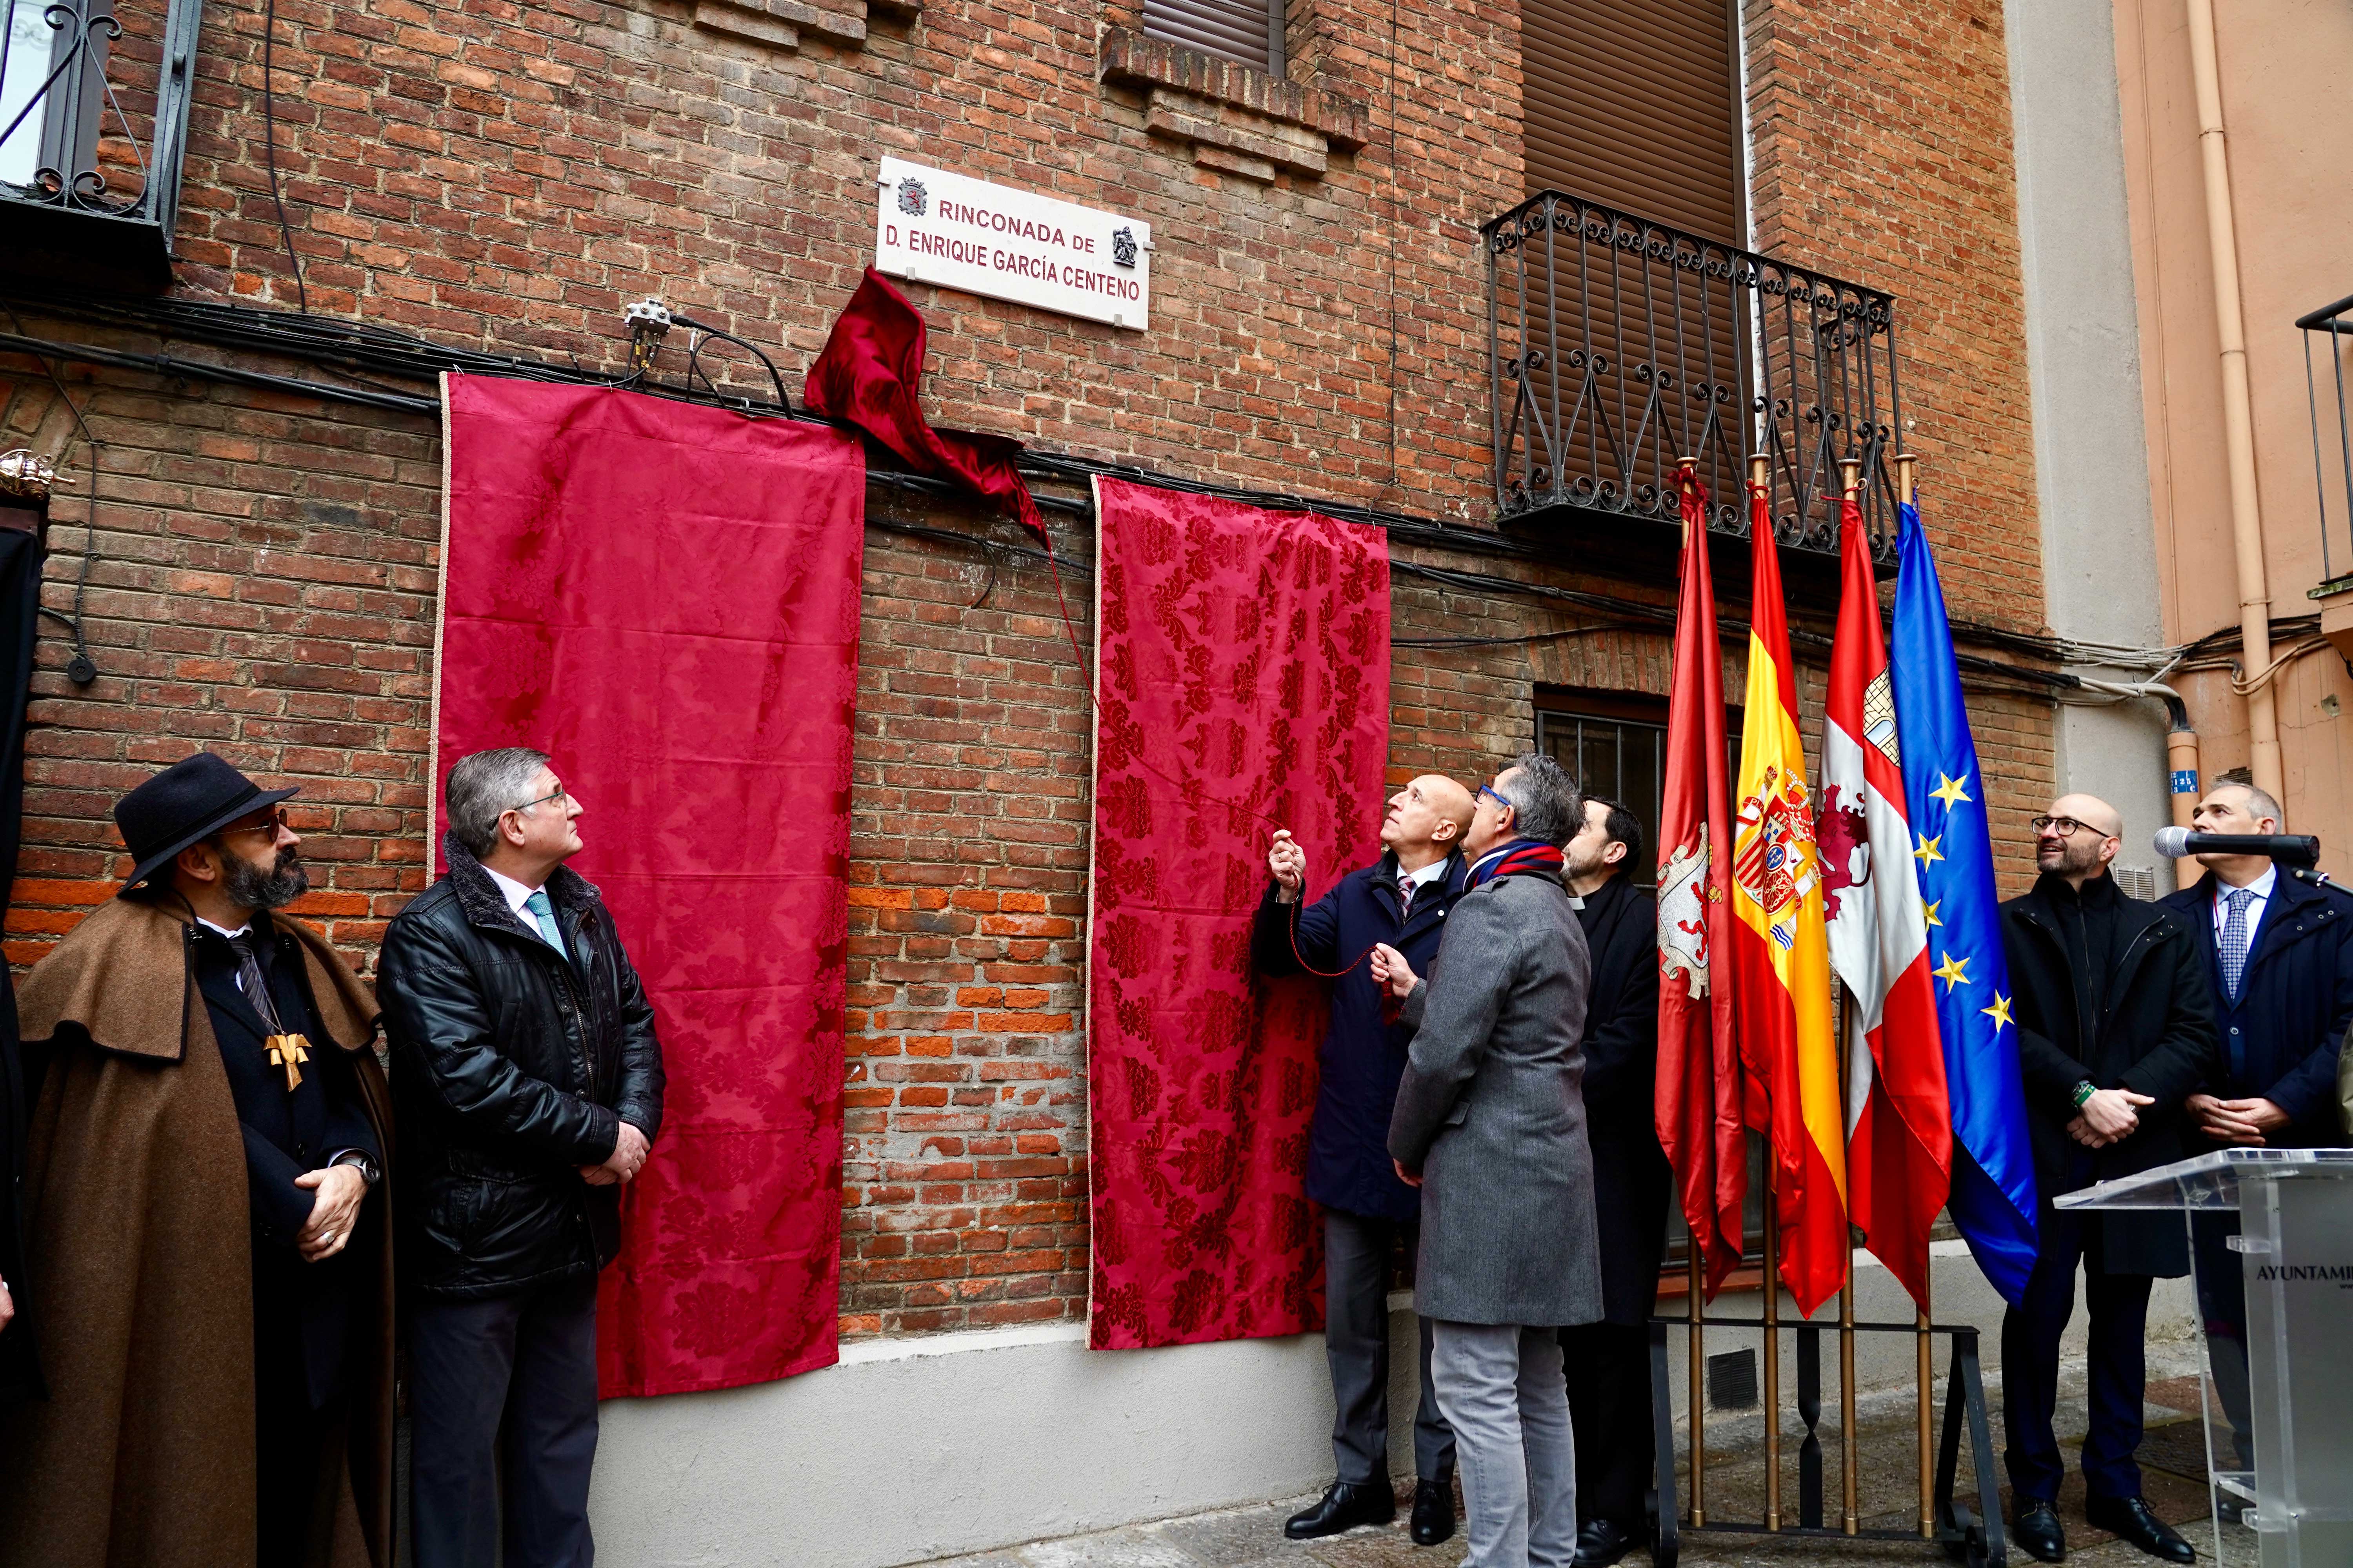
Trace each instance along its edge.
<path fill-rule="evenodd" d="M 409 1319 L 416 1568 L 591 1568 L 595 1279 L 419 1302 Z M 499 1450 L 501 1425 L 506 1434 Z"/>

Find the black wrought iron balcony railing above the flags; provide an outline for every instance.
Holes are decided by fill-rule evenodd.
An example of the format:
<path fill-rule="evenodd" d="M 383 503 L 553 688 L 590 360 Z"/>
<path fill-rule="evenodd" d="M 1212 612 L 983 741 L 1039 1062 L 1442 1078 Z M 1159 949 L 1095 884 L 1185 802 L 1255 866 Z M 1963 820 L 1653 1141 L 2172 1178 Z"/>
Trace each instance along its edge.
<path fill-rule="evenodd" d="M 1871 555 L 1894 559 L 1894 296 L 1558 190 L 1480 235 L 1506 527 L 1680 527 L 1675 463 L 1692 456 L 1711 531 L 1746 538 L 1762 456 L 1774 536 L 1835 552 L 1840 461 L 1857 458 Z"/>

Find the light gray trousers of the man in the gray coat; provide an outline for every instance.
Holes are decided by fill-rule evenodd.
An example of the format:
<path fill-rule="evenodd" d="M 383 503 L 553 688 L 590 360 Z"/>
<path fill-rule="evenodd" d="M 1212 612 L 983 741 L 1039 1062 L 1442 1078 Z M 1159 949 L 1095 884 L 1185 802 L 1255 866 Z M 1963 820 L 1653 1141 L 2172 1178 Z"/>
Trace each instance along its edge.
<path fill-rule="evenodd" d="M 1464 1458 L 1471 1552 L 1461 1568 L 1569 1568 L 1577 1556 L 1577 1439 L 1560 1333 L 1438 1324 L 1438 1408 Z"/>

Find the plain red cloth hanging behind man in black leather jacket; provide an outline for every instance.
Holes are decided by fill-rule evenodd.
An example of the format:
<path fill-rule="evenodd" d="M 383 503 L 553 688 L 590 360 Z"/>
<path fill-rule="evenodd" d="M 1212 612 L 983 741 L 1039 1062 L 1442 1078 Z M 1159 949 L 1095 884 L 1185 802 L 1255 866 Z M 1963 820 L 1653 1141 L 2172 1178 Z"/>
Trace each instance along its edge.
<path fill-rule="evenodd" d="M 607 1396 L 835 1361 L 854 435 L 449 376 L 435 799 L 555 759 L 652 994 L 668 1105 L 598 1300 Z"/>

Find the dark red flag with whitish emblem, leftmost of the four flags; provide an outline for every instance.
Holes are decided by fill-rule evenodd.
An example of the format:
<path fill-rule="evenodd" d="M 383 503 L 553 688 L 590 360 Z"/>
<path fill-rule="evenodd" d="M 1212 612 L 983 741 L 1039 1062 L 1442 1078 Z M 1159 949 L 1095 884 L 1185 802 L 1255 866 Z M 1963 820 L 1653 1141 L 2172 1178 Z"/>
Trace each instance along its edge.
<path fill-rule="evenodd" d="M 1682 487 L 1682 597 L 1675 609 L 1666 795 L 1659 806 L 1659 1147 L 1706 1260 L 1708 1295 L 1741 1260 L 1748 1135 L 1732 1030 L 1732 790 L 1725 661 L 1708 581 L 1708 496 Z"/>

